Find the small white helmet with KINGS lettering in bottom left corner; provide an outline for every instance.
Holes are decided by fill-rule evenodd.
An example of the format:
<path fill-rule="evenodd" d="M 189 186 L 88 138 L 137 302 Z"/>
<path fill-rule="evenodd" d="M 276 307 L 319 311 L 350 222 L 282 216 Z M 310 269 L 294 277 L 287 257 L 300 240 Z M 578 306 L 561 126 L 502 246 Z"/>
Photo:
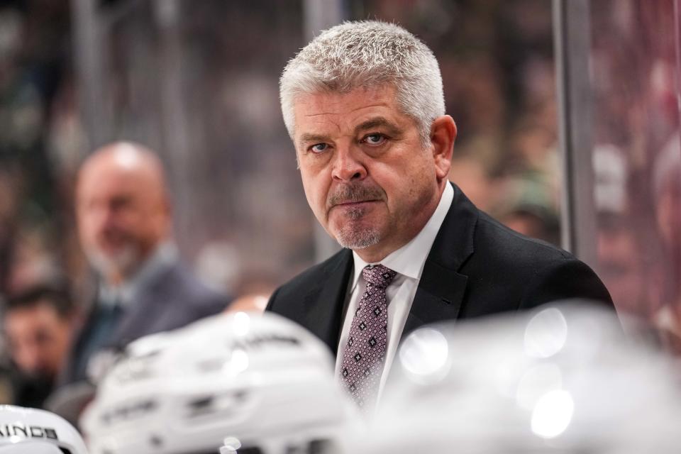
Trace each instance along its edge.
<path fill-rule="evenodd" d="M 0 454 L 87 454 L 76 429 L 49 411 L 0 405 Z"/>

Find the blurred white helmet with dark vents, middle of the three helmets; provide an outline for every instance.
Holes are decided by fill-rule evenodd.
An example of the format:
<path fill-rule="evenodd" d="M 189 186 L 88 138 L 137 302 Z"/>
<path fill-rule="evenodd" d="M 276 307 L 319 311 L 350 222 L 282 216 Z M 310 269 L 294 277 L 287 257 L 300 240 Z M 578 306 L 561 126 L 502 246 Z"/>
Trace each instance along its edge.
<path fill-rule="evenodd" d="M 81 425 L 92 454 L 326 453 L 346 411 L 326 345 L 240 312 L 131 343 Z"/>

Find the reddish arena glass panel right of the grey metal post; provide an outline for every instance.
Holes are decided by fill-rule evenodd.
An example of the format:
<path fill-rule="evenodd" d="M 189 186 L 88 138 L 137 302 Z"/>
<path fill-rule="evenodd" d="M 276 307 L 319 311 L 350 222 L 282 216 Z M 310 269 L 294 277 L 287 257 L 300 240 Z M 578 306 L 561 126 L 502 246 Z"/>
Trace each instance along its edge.
<path fill-rule="evenodd" d="M 588 48 L 595 263 L 619 314 L 681 350 L 679 9 L 592 0 Z M 567 44 L 568 46 L 570 43 Z M 575 87 L 567 87 L 567 90 Z M 576 192 L 571 195 L 574 197 Z M 576 236 L 585 235 L 575 223 Z"/>

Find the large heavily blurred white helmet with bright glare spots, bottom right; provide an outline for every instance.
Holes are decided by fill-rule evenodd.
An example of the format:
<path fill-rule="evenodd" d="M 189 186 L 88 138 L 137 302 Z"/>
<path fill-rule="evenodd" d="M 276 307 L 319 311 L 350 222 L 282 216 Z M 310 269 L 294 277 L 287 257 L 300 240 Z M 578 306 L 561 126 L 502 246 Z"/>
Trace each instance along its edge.
<path fill-rule="evenodd" d="M 674 365 L 616 315 L 560 304 L 405 339 L 353 454 L 678 453 Z"/>

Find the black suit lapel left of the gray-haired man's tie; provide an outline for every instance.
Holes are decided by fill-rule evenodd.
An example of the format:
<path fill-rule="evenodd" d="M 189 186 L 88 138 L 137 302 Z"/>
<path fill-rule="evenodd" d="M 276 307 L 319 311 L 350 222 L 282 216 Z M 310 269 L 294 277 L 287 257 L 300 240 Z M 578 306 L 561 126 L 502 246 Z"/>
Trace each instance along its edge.
<path fill-rule="evenodd" d="M 320 279 L 303 298 L 303 326 L 326 343 L 333 355 L 336 355 L 341 335 L 343 306 L 353 269 L 352 256 L 349 249 L 342 250 L 338 260 L 329 262 L 323 270 L 325 279 Z"/>

